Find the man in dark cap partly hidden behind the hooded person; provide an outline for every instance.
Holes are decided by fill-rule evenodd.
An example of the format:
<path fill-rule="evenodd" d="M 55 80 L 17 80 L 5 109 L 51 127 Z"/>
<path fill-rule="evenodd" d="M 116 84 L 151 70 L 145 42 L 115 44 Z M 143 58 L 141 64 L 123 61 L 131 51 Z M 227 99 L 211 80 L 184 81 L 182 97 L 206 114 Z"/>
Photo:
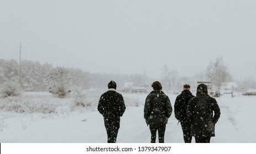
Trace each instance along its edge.
<path fill-rule="evenodd" d="M 192 135 L 190 123 L 187 119 L 187 105 L 191 98 L 195 97 L 190 92 L 190 85 L 184 85 L 183 91 L 176 97 L 174 104 L 175 118 L 180 122 L 183 131 L 183 139 L 185 143 L 191 143 Z"/>

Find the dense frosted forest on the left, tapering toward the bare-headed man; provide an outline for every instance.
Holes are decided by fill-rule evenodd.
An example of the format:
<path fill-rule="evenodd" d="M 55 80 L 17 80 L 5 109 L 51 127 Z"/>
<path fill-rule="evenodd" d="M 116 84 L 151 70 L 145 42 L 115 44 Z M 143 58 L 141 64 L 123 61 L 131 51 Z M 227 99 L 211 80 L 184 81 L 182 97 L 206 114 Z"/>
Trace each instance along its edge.
<path fill-rule="evenodd" d="M 0 59 L 0 85 L 12 83 L 23 91 L 52 91 L 59 84 L 69 87 L 68 91 L 86 90 L 91 88 L 106 88 L 106 83 L 116 80 L 118 88 L 127 81 L 134 84 L 148 82 L 144 74 L 121 75 L 85 72 L 81 69 L 53 67 L 53 65 L 39 62 Z M 2 86 L 3 87 L 3 86 Z"/>

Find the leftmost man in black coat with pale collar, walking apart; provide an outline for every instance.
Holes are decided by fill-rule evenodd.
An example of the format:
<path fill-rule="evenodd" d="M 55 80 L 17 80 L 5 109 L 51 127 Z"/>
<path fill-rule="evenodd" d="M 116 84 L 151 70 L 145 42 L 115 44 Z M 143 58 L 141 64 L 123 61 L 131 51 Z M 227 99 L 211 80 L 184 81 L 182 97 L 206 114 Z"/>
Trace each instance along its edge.
<path fill-rule="evenodd" d="M 117 84 L 114 81 L 110 81 L 108 91 L 101 95 L 98 102 L 98 111 L 104 117 L 108 143 L 116 142 L 117 133 L 120 128 L 120 117 L 123 116 L 126 110 L 123 96 L 116 91 L 116 88 Z"/>

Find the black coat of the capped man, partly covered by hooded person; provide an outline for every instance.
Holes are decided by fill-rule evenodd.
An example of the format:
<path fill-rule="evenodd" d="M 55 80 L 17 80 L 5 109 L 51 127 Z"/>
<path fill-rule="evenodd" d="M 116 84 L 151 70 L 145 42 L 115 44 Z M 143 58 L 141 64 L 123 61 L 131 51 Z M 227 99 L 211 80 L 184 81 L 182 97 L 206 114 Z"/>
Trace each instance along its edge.
<path fill-rule="evenodd" d="M 189 90 L 183 90 L 176 97 L 174 104 L 174 114 L 177 120 L 187 120 L 187 105 L 191 98 L 195 97 Z"/>

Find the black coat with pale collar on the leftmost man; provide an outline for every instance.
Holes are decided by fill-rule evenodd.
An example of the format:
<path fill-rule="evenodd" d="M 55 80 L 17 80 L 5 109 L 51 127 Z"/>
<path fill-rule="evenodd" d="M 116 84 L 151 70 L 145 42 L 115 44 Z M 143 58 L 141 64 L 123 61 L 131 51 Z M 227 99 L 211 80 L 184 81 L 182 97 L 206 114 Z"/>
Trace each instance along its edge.
<path fill-rule="evenodd" d="M 101 95 L 98 102 L 98 111 L 105 120 L 117 120 L 123 116 L 126 106 L 124 105 L 123 96 L 114 90 L 109 90 Z"/>

